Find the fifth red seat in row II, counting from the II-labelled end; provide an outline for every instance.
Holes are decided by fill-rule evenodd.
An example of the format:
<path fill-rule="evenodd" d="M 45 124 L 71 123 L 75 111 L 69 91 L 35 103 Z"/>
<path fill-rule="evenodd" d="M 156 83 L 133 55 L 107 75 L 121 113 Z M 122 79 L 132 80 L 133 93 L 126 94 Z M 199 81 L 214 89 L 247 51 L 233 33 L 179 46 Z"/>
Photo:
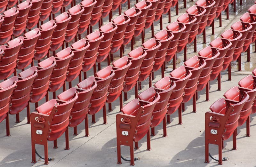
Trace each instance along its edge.
<path fill-rule="evenodd" d="M 115 76 L 109 84 L 107 95 L 108 111 L 112 111 L 111 103 L 114 102 L 119 97 L 119 106 L 120 110 L 123 107 L 123 95 L 122 91 L 124 88 L 125 75 L 128 69 L 132 65 L 132 61 L 128 59 L 127 56 L 124 56 L 113 63 L 112 69 L 114 70 Z"/>

